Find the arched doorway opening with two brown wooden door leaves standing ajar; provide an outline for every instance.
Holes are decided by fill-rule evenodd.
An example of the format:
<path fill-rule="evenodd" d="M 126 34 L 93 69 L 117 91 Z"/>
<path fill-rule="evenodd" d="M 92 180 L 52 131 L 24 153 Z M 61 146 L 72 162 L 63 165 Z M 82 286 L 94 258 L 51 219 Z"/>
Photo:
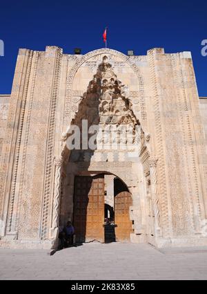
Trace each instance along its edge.
<path fill-rule="evenodd" d="M 106 176 L 75 176 L 73 223 L 77 242 L 130 241 L 132 197 L 121 179 L 114 177 L 108 183 Z"/>

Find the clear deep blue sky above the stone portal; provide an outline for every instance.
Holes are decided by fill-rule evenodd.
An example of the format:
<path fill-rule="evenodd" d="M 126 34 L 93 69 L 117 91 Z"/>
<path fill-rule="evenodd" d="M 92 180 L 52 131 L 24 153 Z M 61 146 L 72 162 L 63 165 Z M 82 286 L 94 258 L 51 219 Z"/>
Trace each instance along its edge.
<path fill-rule="evenodd" d="M 199 95 L 207 96 L 207 57 L 201 41 L 207 39 L 207 1 L 204 0 L 59 0 L 1 1 L 0 93 L 10 93 L 19 48 L 45 50 L 47 45 L 72 53 L 103 47 L 108 26 L 108 47 L 146 55 L 154 47 L 166 53 L 191 51 Z"/>

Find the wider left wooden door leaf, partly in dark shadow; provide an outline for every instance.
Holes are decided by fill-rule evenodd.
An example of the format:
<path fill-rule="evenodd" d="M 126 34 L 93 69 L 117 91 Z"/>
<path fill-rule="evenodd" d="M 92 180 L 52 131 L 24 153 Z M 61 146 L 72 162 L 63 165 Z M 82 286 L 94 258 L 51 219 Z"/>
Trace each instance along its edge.
<path fill-rule="evenodd" d="M 76 176 L 74 226 L 76 241 L 104 241 L 104 177 Z"/>

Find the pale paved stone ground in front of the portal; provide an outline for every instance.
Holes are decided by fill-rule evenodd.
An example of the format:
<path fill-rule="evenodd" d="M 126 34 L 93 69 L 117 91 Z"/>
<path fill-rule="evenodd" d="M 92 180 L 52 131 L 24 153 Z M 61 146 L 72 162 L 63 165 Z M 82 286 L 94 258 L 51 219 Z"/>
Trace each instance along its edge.
<path fill-rule="evenodd" d="M 207 250 L 90 243 L 50 256 L 0 249 L 0 279 L 207 279 Z"/>

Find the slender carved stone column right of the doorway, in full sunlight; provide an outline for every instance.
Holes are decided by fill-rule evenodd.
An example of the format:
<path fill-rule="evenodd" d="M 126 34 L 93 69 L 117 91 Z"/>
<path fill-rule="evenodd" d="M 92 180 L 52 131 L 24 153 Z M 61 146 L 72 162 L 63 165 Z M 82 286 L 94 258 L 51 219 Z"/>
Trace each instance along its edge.
<path fill-rule="evenodd" d="M 159 198 L 157 196 L 157 160 L 158 158 L 155 157 L 149 158 L 152 208 L 155 214 L 155 237 L 161 236 Z"/>

